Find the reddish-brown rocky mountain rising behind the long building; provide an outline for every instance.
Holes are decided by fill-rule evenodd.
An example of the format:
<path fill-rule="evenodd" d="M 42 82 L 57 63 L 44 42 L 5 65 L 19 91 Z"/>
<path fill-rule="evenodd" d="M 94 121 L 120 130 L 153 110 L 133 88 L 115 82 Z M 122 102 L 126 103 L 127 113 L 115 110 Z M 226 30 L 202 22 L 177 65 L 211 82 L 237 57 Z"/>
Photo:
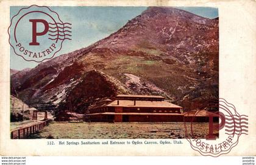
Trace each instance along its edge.
<path fill-rule="evenodd" d="M 91 46 L 13 74 L 12 93 L 34 107 L 80 113 L 120 93 L 204 107 L 218 100 L 218 29 L 218 19 L 149 7 Z"/>

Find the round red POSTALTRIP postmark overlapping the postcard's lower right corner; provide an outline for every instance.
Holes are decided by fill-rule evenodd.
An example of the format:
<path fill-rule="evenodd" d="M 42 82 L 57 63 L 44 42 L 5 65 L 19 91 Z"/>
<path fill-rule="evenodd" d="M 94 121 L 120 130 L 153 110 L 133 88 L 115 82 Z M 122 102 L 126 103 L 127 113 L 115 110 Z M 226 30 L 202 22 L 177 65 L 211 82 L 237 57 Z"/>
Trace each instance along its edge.
<path fill-rule="evenodd" d="M 218 112 L 208 113 L 208 135 L 205 139 L 196 137 L 193 132 L 194 118 L 184 121 L 186 138 L 190 142 L 193 150 L 204 156 L 220 156 L 229 153 L 238 144 L 241 135 L 247 135 L 248 116 L 240 115 L 233 104 L 225 99 L 219 99 L 218 107 L 216 104 L 209 105 L 208 108 L 219 108 Z M 201 110 L 196 111 L 196 116 Z M 213 118 L 218 116 L 218 127 L 213 125 Z M 215 131 L 218 133 L 214 133 Z M 191 138 L 193 137 L 193 138 Z"/>

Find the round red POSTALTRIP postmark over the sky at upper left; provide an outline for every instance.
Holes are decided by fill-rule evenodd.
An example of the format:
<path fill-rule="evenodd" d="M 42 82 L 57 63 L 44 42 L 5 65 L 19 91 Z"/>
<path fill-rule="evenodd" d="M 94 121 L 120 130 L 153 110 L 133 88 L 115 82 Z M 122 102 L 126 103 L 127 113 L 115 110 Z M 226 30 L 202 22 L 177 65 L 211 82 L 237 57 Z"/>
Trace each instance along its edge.
<path fill-rule="evenodd" d="M 8 33 L 16 55 L 39 63 L 54 57 L 64 40 L 71 40 L 71 23 L 63 23 L 49 7 L 31 5 L 12 17 Z"/>

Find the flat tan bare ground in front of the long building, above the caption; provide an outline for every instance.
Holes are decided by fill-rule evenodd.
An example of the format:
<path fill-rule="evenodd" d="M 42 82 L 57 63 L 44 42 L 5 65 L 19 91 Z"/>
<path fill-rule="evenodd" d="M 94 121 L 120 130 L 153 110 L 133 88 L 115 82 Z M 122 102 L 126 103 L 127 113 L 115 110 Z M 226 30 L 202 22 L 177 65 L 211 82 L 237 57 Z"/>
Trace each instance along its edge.
<path fill-rule="evenodd" d="M 190 134 L 190 124 L 187 124 L 186 127 L 188 134 Z M 208 135 L 208 123 L 193 123 L 193 133 L 193 137 L 205 138 Z M 218 135 L 218 130 L 214 133 Z M 49 135 L 59 139 L 183 139 L 185 138 L 185 125 L 183 122 L 52 122 L 38 134 L 30 136 L 30 138 L 48 138 Z"/>

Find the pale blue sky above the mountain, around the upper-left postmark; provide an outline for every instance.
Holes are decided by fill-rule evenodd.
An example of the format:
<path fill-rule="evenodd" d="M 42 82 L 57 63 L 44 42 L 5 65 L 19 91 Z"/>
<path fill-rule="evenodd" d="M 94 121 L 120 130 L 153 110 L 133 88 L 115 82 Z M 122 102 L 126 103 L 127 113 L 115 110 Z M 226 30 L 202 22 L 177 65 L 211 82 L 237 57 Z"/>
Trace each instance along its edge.
<path fill-rule="evenodd" d="M 10 18 L 23 8 L 10 7 Z M 205 18 L 218 17 L 218 9 L 212 7 L 175 7 Z M 147 7 L 50 7 L 59 13 L 63 22 L 72 23 L 72 40 L 63 41 L 62 50 L 55 54 L 66 54 L 87 47 L 123 27 L 127 21 L 140 15 Z M 10 47 L 10 68 L 22 70 L 34 68 L 38 63 L 25 61 Z"/>

